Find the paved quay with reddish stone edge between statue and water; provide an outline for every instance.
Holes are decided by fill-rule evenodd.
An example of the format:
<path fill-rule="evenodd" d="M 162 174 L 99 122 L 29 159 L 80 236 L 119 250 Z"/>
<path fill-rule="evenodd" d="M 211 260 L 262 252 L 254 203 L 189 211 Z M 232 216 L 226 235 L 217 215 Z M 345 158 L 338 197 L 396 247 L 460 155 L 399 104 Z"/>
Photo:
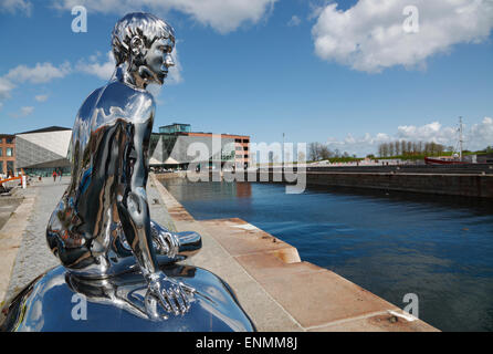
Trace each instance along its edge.
<path fill-rule="evenodd" d="M 259 331 L 438 331 L 241 219 L 195 220 L 151 175 L 178 231 L 193 230 L 202 250 L 190 260 L 223 278 Z"/>

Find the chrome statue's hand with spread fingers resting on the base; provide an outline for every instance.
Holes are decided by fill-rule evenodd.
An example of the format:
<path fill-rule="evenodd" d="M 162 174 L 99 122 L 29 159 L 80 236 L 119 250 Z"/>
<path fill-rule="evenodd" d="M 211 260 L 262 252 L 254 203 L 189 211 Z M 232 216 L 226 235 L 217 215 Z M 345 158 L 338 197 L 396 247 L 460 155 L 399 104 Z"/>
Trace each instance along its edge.
<path fill-rule="evenodd" d="M 166 312 L 179 315 L 190 310 L 190 301 L 188 296 L 193 295 L 193 288 L 168 278 L 162 272 L 149 277 L 148 284 L 149 294 L 157 300 L 158 304 L 161 305 Z M 151 312 L 154 316 L 157 315 L 156 311 Z"/>

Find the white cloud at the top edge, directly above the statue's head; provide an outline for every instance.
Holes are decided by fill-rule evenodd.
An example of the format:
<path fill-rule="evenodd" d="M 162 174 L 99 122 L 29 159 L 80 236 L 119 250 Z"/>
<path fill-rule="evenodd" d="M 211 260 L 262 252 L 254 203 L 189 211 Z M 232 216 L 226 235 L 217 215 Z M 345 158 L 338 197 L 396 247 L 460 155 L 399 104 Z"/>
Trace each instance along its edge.
<path fill-rule="evenodd" d="M 90 11 L 123 14 L 145 9 L 158 14 L 175 10 L 210 25 L 220 33 L 234 31 L 245 22 L 258 23 L 277 0 L 52 0 L 59 9 L 84 6 Z"/>

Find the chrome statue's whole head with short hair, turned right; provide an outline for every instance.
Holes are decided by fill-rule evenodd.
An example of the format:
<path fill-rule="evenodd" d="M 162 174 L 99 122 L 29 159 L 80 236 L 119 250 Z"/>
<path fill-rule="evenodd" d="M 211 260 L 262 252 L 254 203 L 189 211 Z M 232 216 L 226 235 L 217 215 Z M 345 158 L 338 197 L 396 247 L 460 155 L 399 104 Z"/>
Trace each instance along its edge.
<path fill-rule="evenodd" d="M 175 31 L 150 13 L 134 12 L 120 19 L 113 30 L 112 45 L 116 65 L 126 64 L 139 86 L 161 85 L 168 67 L 175 65 L 171 58 Z"/>

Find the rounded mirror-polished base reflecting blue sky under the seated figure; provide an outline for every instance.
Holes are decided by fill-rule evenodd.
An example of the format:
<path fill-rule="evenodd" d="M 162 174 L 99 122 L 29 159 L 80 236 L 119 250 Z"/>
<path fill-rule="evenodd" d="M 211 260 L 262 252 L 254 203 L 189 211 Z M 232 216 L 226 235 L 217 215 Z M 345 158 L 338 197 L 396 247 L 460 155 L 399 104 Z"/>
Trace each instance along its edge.
<path fill-rule="evenodd" d="M 35 279 L 7 303 L 0 314 L 0 330 L 255 331 L 231 289 L 217 275 L 189 266 L 171 264 L 161 270 L 197 290 L 191 298 L 190 311 L 183 315 L 150 319 L 145 304 L 147 283 L 140 273 L 130 272 L 106 280 L 80 280 L 60 266 Z"/>

